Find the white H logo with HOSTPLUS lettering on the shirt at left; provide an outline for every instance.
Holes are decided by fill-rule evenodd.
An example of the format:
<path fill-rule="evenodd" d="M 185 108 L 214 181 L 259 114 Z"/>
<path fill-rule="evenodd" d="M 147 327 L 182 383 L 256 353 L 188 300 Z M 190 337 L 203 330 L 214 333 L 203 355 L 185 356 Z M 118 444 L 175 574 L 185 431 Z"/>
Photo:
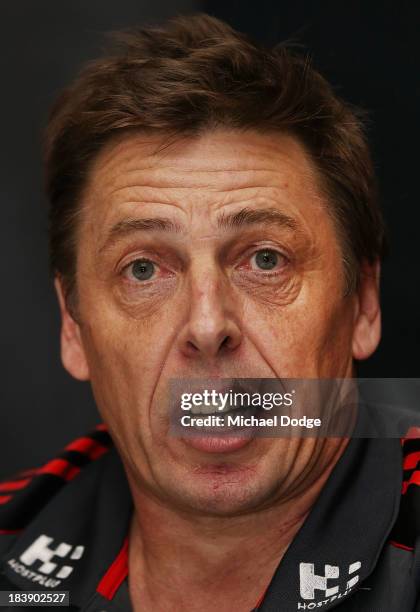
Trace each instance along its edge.
<path fill-rule="evenodd" d="M 55 588 L 73 572 L 74 566 L 69 564 L 69 560 L 81 559 L 85 547 L 60 542 L 54 548 L 53 542 L 53 538 L 40 535 L 19 559 L 9 559 L 8 565 L 31 582 Z"/>

